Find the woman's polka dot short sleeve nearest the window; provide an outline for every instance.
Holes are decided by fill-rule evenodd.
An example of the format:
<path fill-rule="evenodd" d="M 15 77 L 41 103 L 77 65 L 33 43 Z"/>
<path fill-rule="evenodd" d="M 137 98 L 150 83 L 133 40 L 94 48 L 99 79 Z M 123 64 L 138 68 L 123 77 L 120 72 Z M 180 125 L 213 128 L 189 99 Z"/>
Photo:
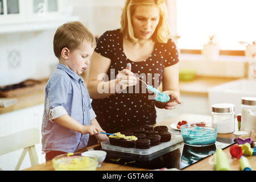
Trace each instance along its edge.
<path fill-rule="evenodd" d="M 167 49 L 164 50 L 164 67 L 170 67 L 179 62 L 179 53 L 175 42 L 172 39 L 168 39 L 167 46 L 164 46 Z"/>

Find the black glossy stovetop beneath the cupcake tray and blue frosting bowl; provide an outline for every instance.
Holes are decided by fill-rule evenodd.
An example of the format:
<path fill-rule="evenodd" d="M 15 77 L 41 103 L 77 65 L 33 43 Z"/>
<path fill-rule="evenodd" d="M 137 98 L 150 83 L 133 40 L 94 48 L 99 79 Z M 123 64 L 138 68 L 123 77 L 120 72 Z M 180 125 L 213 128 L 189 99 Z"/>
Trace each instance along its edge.
<path fill-rule="evenodd" d="M 146 156 L 105 150 L 107 156 L 104 162 L 145 169 L 184 169 L 214 154 L 216 148 L 223 149 L 234 143 L 234 139 L 227 138 L 217 138 L 215 144 L 205 147 L 192 147 L 181 142 Z"/>

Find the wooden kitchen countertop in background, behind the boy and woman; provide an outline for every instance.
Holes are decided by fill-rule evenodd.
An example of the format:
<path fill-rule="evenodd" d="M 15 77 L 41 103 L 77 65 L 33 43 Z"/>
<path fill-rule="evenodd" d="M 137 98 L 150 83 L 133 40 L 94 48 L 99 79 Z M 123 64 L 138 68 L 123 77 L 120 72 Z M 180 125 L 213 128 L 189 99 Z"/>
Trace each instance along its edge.
<path fill-rule="evenodd" d="M 208 96 L 207 89 L 209 89 L 210 87 L 233 80 L 237 80 L 237 78 L 196 77 L 193 81 L 180 81 L 180 94 Z M 43 81 L 43 84 L 46 85 L 48 79 L 44 79 L 41 81 Z M 17 98 L 18 100 L 17 104 L 5 108 L 0 107 L 0 114 L 9 113 L 11 111 L 24 109 L 39 104 L 44 104 L 44 89 L 37 92 L 24 94 L 22 96 L 17 96 L 15 98 Z"/>

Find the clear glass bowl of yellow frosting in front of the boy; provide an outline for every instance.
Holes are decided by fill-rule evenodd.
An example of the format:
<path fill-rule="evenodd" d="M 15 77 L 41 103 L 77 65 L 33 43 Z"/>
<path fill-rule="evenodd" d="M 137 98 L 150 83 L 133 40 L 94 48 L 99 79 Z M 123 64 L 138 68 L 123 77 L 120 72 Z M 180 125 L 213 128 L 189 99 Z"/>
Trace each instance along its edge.
<path fill-rule="evenodd" d="M 93 154 L 63 154 L 53 158 L 52 165 L 56 171 L 96 171 L 98 157 Z"/>

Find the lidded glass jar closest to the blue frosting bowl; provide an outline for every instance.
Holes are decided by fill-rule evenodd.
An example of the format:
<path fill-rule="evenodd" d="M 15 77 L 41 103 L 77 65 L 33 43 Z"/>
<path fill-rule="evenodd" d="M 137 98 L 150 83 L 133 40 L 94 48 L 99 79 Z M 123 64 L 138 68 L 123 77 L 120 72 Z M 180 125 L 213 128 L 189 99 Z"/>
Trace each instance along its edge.
<path fill-rule="evenodd" d="M 218 134 L 233 133 L 235 130 L 235 114 L 233 104 L 212 105 L 212 125 L 218 127 Z"/>

